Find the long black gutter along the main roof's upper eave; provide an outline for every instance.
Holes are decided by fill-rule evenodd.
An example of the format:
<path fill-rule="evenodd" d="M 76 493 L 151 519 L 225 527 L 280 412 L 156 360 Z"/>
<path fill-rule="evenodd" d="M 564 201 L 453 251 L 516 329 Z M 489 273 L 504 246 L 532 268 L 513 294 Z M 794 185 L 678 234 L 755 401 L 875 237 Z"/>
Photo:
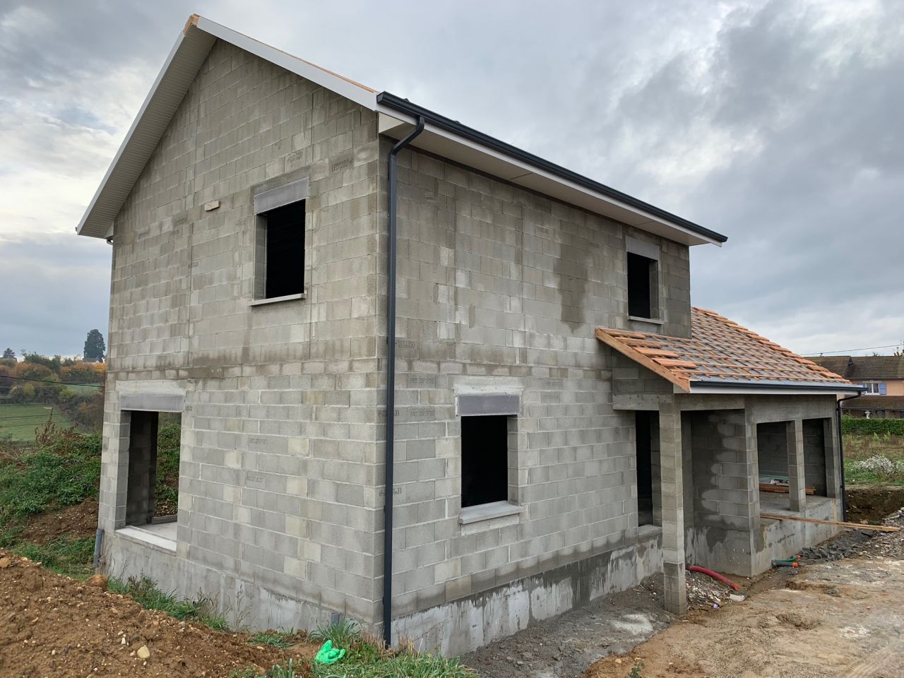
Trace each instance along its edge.
<path fill-rule="evenodd" d="M 418 106 L 417 104 L 412 104 L 408 99 L 402 99 L 401 97 L 397 97 L 396 95 L 390 94 L 389 92 L 381 92 L 377 95 L 377 103 L 387 108 L 397 110 L 400 113 L 411 116 L 412 118 L 422 118 L 433 127 L 438 127 L 440 129 L 446 130 L 447 132 L 451 132 L 458 137 L 464 137 L 466 139 L 469 139 L 470 141 L 475 141 L 481 146 L 491 148 L 494 151 L 508 155 L 509 157 L 512 157 L 515 160 L 519 160 L 523 163 L 527 163 L 528 165 L 533 165 L 534 167 L 541 169 L 543 172 L 554 174 L 561 179 L 566 179 L 573 184 L 578 184 L 579 186 L 587 188 L 590 191 L 596 191 L 597 193 L 602 193 L 608 198 L 612 198 L 619 202 L 624 202 L 626 205 L 636 207 L 638 210 L 643 210 L 644 212 L 659 217 L 660 219 L 669 221 L 676 226 L 681 226 L 688 231 L 702 235 L 704 238 L 716 240 L 717 242 L 725 242 L 726 240 L 728 240 L 728 237 L 722 235 L 721 233 L 710 231 L 709 229 L 703 228 L 701 225 L 696 224 L 693 221 L 682 219 L 681 217 L 671 212 L 665 212 L 665 210 L 654 207 L 654 205 L 651 205 L 649 202 L 637 200 L 637 198 L 632 197 L 627 193 L 622 193 L 621 191 L 610 188 L 605 184 L 595 182 L 593 181 L 593 179 L 589 179 L 583 174 L 572 172 L 570 169 L 566 169 L 561 165 L 556 165 L 555 163 L 551 163 L 549 160 L 544 160 L 539 155 L 533 155 L 532 153 L 528 153 L 527 151 L 524 151 L 517 146 L 506 144 L 504 141 L 500 141 L 495 137 L 490 137 L 483 132 L 478 132 L 473 127 L 466 127 L 460 122 L 457 122 L 457 120 L 446 118 L 446 116 L 441 116 L 438 113 L 429 110 L 428 108 L 423 108 L 422 106 Z"/>

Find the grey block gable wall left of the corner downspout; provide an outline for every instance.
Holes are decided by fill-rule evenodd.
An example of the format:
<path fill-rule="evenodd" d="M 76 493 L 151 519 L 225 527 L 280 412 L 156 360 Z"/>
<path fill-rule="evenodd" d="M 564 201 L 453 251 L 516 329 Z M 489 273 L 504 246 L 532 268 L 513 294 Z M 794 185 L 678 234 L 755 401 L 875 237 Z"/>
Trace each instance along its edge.
<path fill-rule="evenodd" d="M 119 394 L 181 394 L 162 583 L 245 587 L 250 624 L 378 616 L 379 147 L 372 112 L 213 46 L 115 223 L 100 526 L 117 574 L 151 564 L 113 532 L 127 523 Z M 302 178 L 306 298 L 250 306 L 253 196 Z"/>

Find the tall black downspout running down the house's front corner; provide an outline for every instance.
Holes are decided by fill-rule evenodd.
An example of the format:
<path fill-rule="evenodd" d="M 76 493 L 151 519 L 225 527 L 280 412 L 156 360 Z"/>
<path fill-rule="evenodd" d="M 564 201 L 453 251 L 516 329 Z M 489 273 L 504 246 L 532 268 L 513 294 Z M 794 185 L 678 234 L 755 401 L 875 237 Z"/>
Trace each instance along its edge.
<path fill-rule="evenodd" d="M 389 291 L 386 300 L 386 488 L 383 497 L 383 642 L 392 645 L 392 471 L 395 460 L 395 302 L 396 302 L 396 156 L 414 137 L 424 131 L 424 118 L 390 151 L 390 190 L 387 209 L 390 214 Z"/>

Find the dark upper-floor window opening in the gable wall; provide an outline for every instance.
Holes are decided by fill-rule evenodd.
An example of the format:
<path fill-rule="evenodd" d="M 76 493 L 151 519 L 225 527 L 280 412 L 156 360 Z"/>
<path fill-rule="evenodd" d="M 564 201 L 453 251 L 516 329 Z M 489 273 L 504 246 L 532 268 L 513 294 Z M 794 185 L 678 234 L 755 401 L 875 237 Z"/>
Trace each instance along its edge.
<path fill-rule="evenodd" d="M 305 201 L 260 215 L 265 220 L 267 262 L 264 296 L 286 297 L 305 291 Z"/>

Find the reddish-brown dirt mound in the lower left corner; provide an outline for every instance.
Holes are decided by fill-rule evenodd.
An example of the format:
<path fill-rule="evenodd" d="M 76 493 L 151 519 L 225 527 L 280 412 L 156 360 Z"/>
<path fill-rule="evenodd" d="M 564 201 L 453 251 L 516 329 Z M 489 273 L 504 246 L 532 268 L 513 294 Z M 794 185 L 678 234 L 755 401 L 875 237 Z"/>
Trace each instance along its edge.
<path fill-rule="evenodd" d="M 289 657 L 306 663 L 317 650 L 313 643 L 287 650 L 252 645 L 246 634 L 180 622 L 0 550 L 3 558 L 9 561 L 0 568 L 0 676 L 84 678 L 140 671 L 159 678 L 226 678 L 233 669 L 269 668 Z"/>

